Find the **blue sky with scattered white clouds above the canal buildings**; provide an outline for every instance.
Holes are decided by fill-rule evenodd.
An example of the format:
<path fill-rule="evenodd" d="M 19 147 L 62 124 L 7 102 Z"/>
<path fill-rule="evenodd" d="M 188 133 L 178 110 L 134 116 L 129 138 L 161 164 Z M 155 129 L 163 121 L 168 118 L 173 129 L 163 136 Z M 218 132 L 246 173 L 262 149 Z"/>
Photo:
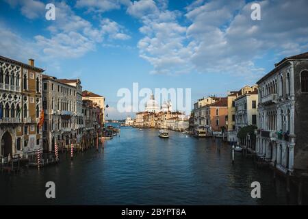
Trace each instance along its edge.
<path fill-rule="evenodd" d="M 45 8 L 55 5 L 55 20 Z M 259 3 L 261 20 L 251 18 Z M 121 119 L 120 88 L 226 96 L 308 51 L 308 1 L 0 0 L 0 55 L 79 78 Z"/>

